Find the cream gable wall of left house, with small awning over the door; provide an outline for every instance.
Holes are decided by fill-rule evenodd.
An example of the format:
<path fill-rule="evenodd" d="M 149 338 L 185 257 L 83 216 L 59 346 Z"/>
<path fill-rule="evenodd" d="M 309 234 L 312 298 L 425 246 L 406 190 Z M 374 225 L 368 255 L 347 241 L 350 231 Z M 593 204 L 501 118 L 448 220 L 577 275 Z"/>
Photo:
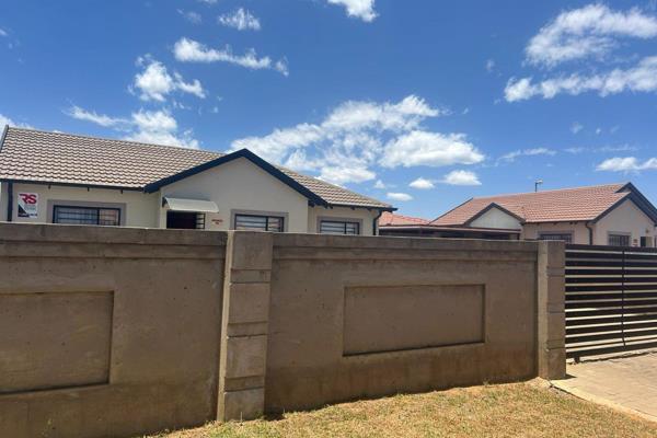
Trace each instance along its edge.
<path fill-rule="evenodd" d="M 308 198 L 244 158 L 164 186 L 160 196 L 215 201 L 219 212 L 206 216 L 208 230 L 231 229 L 231 210 L 251 210 L 287 214 L 287 232 L 308 232 Z M 158 211 L 164 228 L 166 209 Z"/>

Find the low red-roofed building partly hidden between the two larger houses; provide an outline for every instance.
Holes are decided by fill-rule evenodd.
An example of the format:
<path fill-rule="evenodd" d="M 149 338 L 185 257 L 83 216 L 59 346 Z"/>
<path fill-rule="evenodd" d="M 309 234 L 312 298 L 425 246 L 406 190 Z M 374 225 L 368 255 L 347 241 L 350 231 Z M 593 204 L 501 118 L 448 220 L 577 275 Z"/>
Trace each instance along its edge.
<path fill-rule="evenodd" d="M 518 240 L 520 230 L 507 230 L 483 227 L 451 227 L 439 226 L 430 220 L 383 212 L 379 218 L 379 233 L 381 235 L 412 237 L 412 238 L 452 238 L 452 239 L 489 239 L 489 240 Z"/>

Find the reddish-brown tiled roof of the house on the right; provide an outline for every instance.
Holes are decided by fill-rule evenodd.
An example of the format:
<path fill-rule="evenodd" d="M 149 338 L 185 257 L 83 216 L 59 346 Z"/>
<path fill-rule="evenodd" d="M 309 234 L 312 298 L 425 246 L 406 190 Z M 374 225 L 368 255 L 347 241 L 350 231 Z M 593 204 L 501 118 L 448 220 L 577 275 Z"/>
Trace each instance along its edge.
<path fill-rule="evenodd" d="M 472 198 L 431 221 L 437 226 L 463 226 L 492 204 L 508 210 L 526 222 L 593 220 L 631 194 L 626 184 L 564 188 Z"/>

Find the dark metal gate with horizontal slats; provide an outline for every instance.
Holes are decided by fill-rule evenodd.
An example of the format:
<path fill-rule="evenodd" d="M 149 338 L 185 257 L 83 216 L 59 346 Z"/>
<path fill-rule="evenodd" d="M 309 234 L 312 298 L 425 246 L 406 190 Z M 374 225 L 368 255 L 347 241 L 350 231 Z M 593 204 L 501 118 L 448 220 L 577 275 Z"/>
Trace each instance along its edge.
<path fill-rule="evenodd" d="M 657 347 L 657 250 L 566 245 L 566 356 Z"/>

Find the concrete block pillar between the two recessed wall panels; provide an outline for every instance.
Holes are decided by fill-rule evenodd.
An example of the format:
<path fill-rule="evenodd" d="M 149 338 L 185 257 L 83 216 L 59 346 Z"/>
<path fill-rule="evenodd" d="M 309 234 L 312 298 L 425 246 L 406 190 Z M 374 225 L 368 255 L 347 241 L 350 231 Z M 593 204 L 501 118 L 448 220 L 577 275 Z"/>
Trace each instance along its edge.
<path fill-rule="evenodd" d="M 217 419 L 253 419 L 265 407 L 272 233 L 228 238 Z"/>

